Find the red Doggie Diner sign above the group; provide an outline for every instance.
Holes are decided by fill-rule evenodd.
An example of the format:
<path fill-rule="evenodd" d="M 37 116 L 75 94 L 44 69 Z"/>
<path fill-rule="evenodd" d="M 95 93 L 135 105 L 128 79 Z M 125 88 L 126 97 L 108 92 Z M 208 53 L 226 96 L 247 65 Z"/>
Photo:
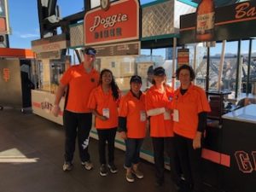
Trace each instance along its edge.
<path fill-rule="evenodd" d="M 101 18 L 101 23 L 99 23 Z M 106 22 L 107 21 L 107 22 Z M 114 22 L 115 21 L 115 22 Z M 113 22 L 113 26 L 109 26 Z M 104 24 L 106 24 L 104 27 Z M 122 0 L 111 3 L 108 11 L 92 9 L 84 15 L 84 44 L 108 44 L 139 38 L 139 3 Z"/>

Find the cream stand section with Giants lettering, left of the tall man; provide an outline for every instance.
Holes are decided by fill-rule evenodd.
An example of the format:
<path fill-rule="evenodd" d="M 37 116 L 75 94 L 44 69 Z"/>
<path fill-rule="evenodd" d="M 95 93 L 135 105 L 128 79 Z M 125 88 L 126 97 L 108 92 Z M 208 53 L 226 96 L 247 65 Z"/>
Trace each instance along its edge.
<path fill-rule="evenodd" d="M 70 60 L 66 56 L 68 44 L 64 33 L 32 41 L 32 50 L 36 53 L 38 72 L 38 89 L 32 90 L 32 112 L 61 125 L 63 124 L 64 97 L 61 98 L 60 102 L 60 115 L 56 118 L 50 112 L 54 106 L 55 91 L 61 75 L 66 71 L 67 61 Z"/>

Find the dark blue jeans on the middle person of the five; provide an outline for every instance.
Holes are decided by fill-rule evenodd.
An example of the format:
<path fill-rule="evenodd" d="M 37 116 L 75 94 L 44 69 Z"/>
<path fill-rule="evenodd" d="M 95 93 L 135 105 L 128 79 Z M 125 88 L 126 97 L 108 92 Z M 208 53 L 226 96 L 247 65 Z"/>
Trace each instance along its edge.
<path fill-rule="evenodd" d="M 125 139 L 125 167 L 131 167 L 132 164 L 138 164 L 140 160 L 140 150 L 143 145 L 143 138 Z"/>

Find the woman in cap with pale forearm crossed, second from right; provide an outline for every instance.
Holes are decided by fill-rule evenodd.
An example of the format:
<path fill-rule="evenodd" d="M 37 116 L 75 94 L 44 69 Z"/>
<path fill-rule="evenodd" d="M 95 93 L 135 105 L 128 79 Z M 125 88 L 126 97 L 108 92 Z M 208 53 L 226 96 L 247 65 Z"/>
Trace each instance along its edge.
<path fill-rule="evenodd" d="M 179 183 L 176 152 L 173 147 L 173 131 L 171 118 L 171 102 L 173 91 L 166 85 L 166 72 L 163 67 L 154 69 L 153 86 L 146 93 L 146 110 L 150 117 L 150 136 L 154 148 L 154 165 L 156 168 L 156 184 L 164 183 L 165 158 L 164 151 L 170 158 L 172 180 Z"/>

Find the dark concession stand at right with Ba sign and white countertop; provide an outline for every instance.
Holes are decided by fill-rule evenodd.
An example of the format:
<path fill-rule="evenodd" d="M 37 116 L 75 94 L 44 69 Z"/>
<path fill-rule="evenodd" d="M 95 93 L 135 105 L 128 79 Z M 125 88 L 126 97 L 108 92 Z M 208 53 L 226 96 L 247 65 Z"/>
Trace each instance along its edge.
<path fill-rule="evenodd" d="M 222 42 L 222 53 L 224 53 L 225 41 L 238 40 L 241 42 L 241 39 L 251 41 L 256 36 L 255 13 L 255 0 L 214 9 L 211 13 L 215 15 L 212 36 L 207 41 Z M 198 18 L 197 13 L 181 16 L 181 44 L 201 42 L 199 38 L 195 38 Z M 240 43 L 238 45 L 241 46 Z M 211 61 L 209 51 L 211 48 L 208 47 L 207 49 L 207 65 L 209 65 Z M 249 51 L 251 52 L 252 49 L 249 49 Z M 249 56 L 248 70 L 250 69 L 250 63 Z M 221 55 L 219 62 L 218 74 L 220 77 L 218 77 L 217 90 L 209 89 L 209 71 L 206 77 L 206 90 L 212 113 L 209 114 L 205 147 L 202 152 L 204 181 L 207 186 L 210 186 L 211 191 L 253 192 L 256 191 L 256 105 L 253 102 L 247 102 L 238 106 L 241 87 L 241 82 L 239 82 L 239 79 L 241 79 L 240 47 L 237 54 L 236 105 L 230 108 L 224 107 L 225 100 L 229 101 L 230 91 L 221 90 L 219 86 L 222 80 L 223 64 L 224 54 Z M 209 70 L 209 67 L 207 67 L 207 70 Z M 245 95 L 246 100 L 247 97 L 248 94 Z M 253 97 L 255 98 L 255 96 Z M 212 119 L 218 119 L 218 123 L 212 123 Z"/>

